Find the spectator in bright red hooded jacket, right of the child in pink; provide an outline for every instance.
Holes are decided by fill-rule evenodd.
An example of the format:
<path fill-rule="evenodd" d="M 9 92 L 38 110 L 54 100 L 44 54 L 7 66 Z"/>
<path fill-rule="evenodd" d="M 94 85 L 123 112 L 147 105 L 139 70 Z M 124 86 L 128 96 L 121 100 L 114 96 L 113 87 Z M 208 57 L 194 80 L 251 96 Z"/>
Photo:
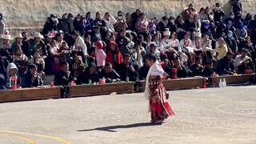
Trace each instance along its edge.
<path fill-rule="evenodd" d="M 106 62 L 110 62 L 113 67 L 122 63 L 122 54 L 115 42 L 110 42 L 110 50 L 106 54 Z"/>

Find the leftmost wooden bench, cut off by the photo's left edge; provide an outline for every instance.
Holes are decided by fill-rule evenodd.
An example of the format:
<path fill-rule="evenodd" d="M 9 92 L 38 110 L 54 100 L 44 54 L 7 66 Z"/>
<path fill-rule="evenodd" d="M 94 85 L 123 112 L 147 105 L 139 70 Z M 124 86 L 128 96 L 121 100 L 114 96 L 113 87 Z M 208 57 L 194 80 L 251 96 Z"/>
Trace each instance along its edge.
<path fill-rule="evenodd" d="M 60 98 L 61 87 L 22 88 L 17 90 L 0 90 L 0 102 L 17 102 L 46 98 Z"/>

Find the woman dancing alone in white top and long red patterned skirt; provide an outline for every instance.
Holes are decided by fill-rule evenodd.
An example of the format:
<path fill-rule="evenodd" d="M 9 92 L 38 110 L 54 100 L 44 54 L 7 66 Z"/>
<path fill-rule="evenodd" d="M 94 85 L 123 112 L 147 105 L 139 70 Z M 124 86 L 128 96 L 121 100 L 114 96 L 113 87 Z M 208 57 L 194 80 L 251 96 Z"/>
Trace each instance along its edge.
<path fill-rule="evenodd" d="M 146 55 L 150 70 L 146 76 L 145 96 L 150 100 L 151 122 L 161 123 L 170 115 L 174 115 L 166 99 L 166 89 L 162 84 L 168 74 L 162 69 L 154 54 Z"/>

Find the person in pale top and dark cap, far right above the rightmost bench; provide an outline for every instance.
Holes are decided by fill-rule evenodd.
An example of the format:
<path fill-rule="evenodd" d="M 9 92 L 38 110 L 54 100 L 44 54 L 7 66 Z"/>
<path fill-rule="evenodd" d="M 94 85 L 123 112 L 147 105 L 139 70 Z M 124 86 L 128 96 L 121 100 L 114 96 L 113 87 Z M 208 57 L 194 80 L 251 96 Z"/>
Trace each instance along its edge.
<path fill-rule="evenodd" d="M 245 70 L 254 70 L 254 63 L 247 54 L 249 54 L 249 50 L 243 48 L 241 54 L 234 59 L 235 70 L 240 74 L 244 74 Z"/>

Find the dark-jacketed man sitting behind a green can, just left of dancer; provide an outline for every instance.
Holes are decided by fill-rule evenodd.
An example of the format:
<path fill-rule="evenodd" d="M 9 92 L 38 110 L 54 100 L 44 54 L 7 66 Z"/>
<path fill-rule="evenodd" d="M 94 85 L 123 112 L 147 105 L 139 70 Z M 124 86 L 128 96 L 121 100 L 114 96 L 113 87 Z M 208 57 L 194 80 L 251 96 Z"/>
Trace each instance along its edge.
<path fill-rule="evenodd" d="M 119 64 L 115 70 L 117 70 L 120 75 L 121 81 L 126 81 L 126 77 L 132 82 L 135 82 L 138 79 L 138 73 L 134 70 L 134 66 L 130 64 L 129 54 L 124 55 L 123 62 Z"/>

